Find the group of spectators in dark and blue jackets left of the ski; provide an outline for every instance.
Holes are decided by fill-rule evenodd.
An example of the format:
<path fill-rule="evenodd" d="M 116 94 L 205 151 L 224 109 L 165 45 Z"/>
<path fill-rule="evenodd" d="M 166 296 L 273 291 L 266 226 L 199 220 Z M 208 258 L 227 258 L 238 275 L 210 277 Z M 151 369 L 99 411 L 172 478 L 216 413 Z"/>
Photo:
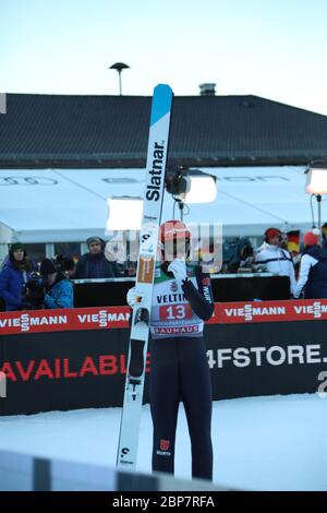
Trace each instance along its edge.
<path fill-rule="evenodd" d="M 123 271 L 105 255 L 105 241 L 90 237 L 87 253 L 75 264 L 64 255 L 44 259 L 38 265 L 28 260 L 21 242 L 11 246 L 0 271 L 0 310 L 36 310 L 74 307 L 72 279 L 120 277 Z"/>

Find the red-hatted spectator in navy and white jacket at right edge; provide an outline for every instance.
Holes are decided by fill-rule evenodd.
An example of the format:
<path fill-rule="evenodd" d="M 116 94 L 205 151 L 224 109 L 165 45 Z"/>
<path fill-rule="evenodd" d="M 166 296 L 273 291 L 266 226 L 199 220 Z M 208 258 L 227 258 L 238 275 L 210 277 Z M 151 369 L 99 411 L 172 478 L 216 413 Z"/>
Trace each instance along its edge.
<path fill-rule="evenodd" d="M 327 298 L 327 250 L 320 248 L 318 241 L 319 236 L 315 230 L 307 231 L 303 236 L 305 248 L 294 298 L 299 298 L 302 291 L 305 299 Z"/>

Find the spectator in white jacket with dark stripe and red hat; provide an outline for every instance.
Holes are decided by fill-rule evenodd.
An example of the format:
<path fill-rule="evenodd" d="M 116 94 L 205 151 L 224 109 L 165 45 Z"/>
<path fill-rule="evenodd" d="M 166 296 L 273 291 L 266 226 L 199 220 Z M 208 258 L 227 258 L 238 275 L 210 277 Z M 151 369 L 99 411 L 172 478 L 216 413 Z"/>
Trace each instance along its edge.
<path fill-rule="evenodd" d="M 280 248 L 281 243 L 281 231 L 278 228 L 268 228 L 265 231 L 264 244 L 256 253 L 255 264 L 264 265 L 268 273 L 289 276 L 290 294 L 293 294 L 296 286 L 294 265 L 288 250 Z"/>

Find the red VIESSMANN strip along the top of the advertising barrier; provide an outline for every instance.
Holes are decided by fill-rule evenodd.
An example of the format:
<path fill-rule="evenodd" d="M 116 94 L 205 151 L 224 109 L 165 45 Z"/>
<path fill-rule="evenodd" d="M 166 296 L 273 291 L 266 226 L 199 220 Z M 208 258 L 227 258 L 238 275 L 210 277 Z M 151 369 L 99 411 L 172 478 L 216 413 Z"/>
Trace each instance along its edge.
<path fill-rule="evenodd" d="M 219 302 L 207 324 L 327 319 L 327 299 Z M 128 329 L 129 307 L 24 310 L 0 313 L 0 335 L 78 330 Z"/>

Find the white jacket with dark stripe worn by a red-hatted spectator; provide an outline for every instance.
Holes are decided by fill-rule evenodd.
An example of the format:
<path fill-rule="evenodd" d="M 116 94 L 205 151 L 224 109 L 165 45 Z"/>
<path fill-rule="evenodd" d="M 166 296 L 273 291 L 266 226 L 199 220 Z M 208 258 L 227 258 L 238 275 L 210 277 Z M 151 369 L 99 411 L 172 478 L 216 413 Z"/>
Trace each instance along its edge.
<path fill-rule="evenodd" d="M 257 252 L 255 256 L 256 264 L 264 264 L 268 273 L 278 276 L 289 276 L 291 294 L 294 294 L 296 279 L 292 256 L 290 253 L 279 246 L 266 243 L 266 246 Z"/>

